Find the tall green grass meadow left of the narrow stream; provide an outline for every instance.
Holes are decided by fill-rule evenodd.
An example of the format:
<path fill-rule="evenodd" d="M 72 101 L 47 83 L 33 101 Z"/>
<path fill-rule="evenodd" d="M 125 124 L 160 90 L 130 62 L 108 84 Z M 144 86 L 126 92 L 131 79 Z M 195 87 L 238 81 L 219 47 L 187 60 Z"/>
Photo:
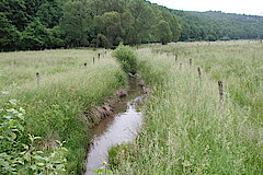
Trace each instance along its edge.
<path fill-rule="evenodd" d="M 102 50 L 100 50 L 102 51 Z M 66 140 L 67 174 L 82 171 L 90 120 L 84 112 L 101 105 L 126 85 L 126 75 L 111 54 L 96 59 L 92 50 L 45 50 L 0 54 L 0 90 L 26 110 L 26 130 L 41 136 L 41 148 Z M 87 62 L 87 68 L 83 66 Z M 35 73 L 39 72 L 39 85 Z"/>

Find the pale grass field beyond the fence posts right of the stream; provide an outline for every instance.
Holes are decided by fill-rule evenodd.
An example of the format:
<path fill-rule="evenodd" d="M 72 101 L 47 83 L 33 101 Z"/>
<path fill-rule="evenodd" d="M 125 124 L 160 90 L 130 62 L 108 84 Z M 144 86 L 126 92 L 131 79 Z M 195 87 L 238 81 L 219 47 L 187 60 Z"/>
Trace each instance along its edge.
<path fill-rule="evenodd" d="M 221 79 L 232 100 L 263 122 L 263 45 L 259 40 L 179 43 L 153 50 L 178 55 L 180 61 L 192 58 L 215 81 Z"/>

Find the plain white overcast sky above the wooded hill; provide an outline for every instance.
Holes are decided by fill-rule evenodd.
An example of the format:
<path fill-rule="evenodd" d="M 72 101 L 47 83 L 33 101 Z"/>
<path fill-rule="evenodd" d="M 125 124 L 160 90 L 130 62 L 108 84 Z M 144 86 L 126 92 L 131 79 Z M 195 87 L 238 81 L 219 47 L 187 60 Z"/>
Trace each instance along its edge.
<path fill-rule="evenodd" d="M 149 0 L 170 9 L 263 15 L 263 0 Z"/>

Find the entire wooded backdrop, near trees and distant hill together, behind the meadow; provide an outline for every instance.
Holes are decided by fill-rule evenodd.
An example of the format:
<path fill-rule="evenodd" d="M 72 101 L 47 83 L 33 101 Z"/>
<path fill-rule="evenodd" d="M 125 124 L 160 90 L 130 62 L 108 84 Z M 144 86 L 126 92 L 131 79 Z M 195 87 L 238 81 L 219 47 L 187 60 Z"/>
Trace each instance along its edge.
<path fill-rule="evenodd" d="M 0 26 L 4 51 L 263 37 L 263 18 L 174 11 L 146 0 L 1 0 Z"/>

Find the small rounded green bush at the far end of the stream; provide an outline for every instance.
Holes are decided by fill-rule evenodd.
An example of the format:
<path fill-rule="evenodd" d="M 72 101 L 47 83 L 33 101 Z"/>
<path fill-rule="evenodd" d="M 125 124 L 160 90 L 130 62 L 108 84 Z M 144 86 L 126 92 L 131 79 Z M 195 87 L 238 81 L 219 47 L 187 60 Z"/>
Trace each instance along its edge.
<path fill-rule="evenodd" d="M 137 72 L 137 57 L 129 46 L 119 45 L 113 51 L 113 57 L 117 58 L 126 73 L 135 74 Z"/>

